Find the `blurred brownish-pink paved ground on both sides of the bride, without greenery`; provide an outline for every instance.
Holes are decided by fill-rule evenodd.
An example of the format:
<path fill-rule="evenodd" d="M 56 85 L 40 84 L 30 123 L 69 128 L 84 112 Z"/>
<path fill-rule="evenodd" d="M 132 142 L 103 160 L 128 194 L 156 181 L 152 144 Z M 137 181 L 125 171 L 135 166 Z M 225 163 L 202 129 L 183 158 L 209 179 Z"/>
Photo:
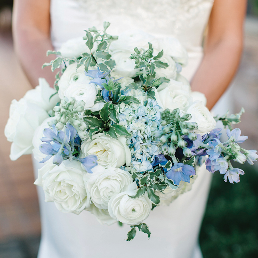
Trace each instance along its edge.
<path fill-rule="evenodd" d="M 35 258 L 40 220 L 30 156 L 9 159 L 10 143 L 3 134 L 12 99 L 19 100 L 30 85 L 13 53 L 10 33 L 0 33 L 0 257 Z M 245 148 L 258 147 L 258 19 L 247 20 L 245 49 L 233 82 L 235 111 L 246 113 L 239 127 L 249 139 Z"/>

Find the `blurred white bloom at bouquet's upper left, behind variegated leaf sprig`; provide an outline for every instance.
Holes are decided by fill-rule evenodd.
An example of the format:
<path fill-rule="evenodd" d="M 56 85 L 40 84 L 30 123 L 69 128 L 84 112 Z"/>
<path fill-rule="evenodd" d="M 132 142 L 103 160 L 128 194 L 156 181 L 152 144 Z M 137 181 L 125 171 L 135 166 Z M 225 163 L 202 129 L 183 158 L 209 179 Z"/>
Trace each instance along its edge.
<path fill-rule="evenodd" d="M 58 51 L 61 52 L 63 57 L 78 58 L 82 53 L 90 54 L 90 50 L 85 43 L 86 40 L 84 40 L 83 37 L 72 38 L 64 42 Z"/>

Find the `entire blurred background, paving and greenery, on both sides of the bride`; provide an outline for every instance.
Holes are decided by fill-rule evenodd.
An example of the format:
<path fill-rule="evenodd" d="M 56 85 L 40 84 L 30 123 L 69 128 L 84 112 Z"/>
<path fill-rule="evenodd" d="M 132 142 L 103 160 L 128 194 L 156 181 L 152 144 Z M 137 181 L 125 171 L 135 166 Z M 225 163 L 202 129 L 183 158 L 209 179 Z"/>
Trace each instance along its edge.
<path fill-rule="evenodd" d="M 30 155 L 9 159 L 4 136 L 12 99 L 31 88 L 13 51 L 12 1 L 0 0 L 0 257 L 36 258 L 40 218 Z M 236 113 L 246 110 L 238 127 L 249 139 L 245 149 L 258 149 L 258 0 L 249 0 L 242 61 L 230 90 Z M 201 232 L 204 258 L 258 257 L 258 164 L 241 166 L 245 175 L 231 185 L 213 176 Z"/>

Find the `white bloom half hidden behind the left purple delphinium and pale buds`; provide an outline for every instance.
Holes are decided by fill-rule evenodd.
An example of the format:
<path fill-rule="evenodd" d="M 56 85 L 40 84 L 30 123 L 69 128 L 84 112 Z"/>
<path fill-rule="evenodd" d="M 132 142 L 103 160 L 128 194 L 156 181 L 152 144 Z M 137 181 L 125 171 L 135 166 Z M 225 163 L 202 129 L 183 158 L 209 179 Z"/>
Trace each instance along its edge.
<path fill-rule="evenodd" d="M 33 139 L 32 139 L 32 144 L 34 149 L 32 150 L 32 152 L 33 152 L 34 158 L 37 161 L 41 161 L 46 157 L 46 154 L 43 154 L 39 150 L 39 146 L 43 144 L 43 142 L 41 141 L 41 138 L 44 137 L 43 130 L 45 128 L 51 128 L 48 123 L 52 124 L 54 122 L 55 122 L 55 117 L 49 117 L 45 119 L 44 122 L 40 126 L 38 126 L 34 132 Z"/>

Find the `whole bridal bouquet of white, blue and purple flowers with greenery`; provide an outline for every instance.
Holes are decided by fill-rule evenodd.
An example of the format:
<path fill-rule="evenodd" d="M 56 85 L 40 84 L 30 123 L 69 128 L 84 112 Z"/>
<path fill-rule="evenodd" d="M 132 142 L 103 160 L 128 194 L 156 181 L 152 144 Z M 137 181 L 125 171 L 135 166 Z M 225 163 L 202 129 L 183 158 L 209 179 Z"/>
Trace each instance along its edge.
<path fill-rule="evenodd" d="M 136 228 L 150 237 L 144 220 L 190 190 L 204 162 L 233 183 L 244 171 L 230 160 L 253 164 L 258 156 L 239 146 L 247 136 L 231 127 L 243 110 L 214 118 L 205 96 L 191 91 L 180 75 L 187 53 L 176 39 L 118 38 L 108 26 L 47 52 L 56 58 L 43 67 L 61 70 L 54 88 L 40 78 L 13 100 L 5 135 L 12 160 L 33 152 L 43 163 L 35 184 L 46 201 L 61 212 L 90 211 L 102 224 L 128 224 L 130 241 Z M 228 127 L 225 142 L 217 120 Z"/>

